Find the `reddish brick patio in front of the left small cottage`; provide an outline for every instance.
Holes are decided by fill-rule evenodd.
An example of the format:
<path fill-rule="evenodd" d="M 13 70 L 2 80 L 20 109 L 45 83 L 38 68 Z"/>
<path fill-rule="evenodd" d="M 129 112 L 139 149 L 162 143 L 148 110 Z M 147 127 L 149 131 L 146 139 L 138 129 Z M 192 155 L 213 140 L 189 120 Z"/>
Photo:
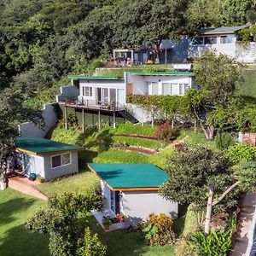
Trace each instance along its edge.
<path fill-rule="evenodd" d="M 27 177 L 9 177 L 8 186 L 10 189 L 15 189 L 26 195 L 32 195 L 39 199 L 48 200 L 48 197 L 38 191 L 35 187 L 40 184 L 37 180 L 30 181 Z"/>

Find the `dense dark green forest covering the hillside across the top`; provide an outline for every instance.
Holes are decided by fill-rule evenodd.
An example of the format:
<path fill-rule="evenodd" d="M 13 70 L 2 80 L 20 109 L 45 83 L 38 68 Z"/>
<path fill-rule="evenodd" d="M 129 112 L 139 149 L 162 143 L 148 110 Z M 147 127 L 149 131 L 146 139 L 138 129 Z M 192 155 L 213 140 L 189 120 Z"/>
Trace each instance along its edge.
<path fill-rule="evenodd" d="M 0 90 L 38 94 L 67 73 L 91 73 L 113 48 L 253 22 L 254 9 L 253 0 L 1 0 Z"/>

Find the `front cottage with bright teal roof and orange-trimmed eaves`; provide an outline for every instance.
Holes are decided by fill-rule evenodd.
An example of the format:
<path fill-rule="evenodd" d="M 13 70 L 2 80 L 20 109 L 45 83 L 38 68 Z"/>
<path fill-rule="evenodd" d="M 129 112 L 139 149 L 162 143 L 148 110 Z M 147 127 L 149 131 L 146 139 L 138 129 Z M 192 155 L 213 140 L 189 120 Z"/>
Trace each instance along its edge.
<path fill-rule="evenodd" d="M 125 214 L 132 224 L 146 220 L 150 213 L 166 213 L 177 218 L 177 202 L 159 194 L 168 178 L 151 164 L 88 164 L 101 179 L 104 211 Z M 108 210 L 108 211 L 106 211 Z"/>

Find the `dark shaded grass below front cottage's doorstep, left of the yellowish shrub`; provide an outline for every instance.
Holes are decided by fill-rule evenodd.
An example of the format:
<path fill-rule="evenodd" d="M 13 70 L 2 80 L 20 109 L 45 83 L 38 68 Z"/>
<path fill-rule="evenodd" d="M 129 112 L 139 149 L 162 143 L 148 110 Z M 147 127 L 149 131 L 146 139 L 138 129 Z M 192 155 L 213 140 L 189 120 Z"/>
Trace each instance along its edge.
<path fill-rule="evenodd" d="M 103 244 L 107 245 L 108 256 L 138 256 L 147 253 L 148 247 L 141 232 L 131 231 L 125 233 L 121 230 L 105 232 L 92 215 L 88 216 L 87 220 L 89 221 L 90 229 L 98 234 Z"/>

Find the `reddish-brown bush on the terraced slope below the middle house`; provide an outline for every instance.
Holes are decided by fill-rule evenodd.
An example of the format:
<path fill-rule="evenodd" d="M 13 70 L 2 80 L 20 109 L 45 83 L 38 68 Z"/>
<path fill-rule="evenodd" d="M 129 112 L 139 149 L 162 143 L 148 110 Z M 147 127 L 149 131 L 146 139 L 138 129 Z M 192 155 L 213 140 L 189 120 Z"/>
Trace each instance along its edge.
<path fill-rule="evenodd" d="M 166 143 L 172 142 L 180 134 L 180 131 L 177 128 L 172 128 L 169 122 L 166 122 L 160 125 L 157 130 L 154 132 L 154 136 L 160 138 Z"/>

